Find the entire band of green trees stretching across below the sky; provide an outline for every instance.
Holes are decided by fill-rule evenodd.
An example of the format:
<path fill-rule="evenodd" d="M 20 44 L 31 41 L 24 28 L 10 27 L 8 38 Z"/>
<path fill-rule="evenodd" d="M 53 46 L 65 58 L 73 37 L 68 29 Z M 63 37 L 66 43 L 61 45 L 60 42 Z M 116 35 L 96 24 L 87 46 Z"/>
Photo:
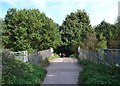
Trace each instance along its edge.
<path fill-rule="evenodd" d="M 119 19 L 115 24 L 103 20 L 92 27 L 84 10 L 68 14 L 59 26 L 38 9 L 11 8 L 7 11 L 3 28 L 4 47 L 12 51 L 39 51 L 53 47 L 57 54 L 66 56 L 85 49 L 120 48 Z"/>

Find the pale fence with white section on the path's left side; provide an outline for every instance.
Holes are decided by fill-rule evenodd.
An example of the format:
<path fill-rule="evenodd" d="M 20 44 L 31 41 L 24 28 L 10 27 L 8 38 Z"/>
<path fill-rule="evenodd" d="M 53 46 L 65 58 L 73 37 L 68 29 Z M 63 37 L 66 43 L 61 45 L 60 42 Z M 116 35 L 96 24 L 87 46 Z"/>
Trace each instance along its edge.
<path fill-rule="evenodd" d="M 40 64 L 41 61 L 45 60 L 50 56 L 53 56 L 53 49 L 50 48 L 32 54 L 29 54 L 27 51 L 19 51 L 19 52 L 10 51 L 10 53 L 13 54 L 15 56 L 15 59 L 17 60 L 23 62 L 31 62 L 34 64 Z"/>

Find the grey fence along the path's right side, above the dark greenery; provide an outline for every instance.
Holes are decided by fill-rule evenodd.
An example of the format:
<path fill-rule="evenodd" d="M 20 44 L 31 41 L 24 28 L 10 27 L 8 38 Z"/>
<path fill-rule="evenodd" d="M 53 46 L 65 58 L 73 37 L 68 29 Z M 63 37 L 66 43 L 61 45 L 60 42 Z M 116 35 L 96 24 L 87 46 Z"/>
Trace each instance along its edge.
<path fill-rule="evenodd" d="M 81 59 L 120 66 L 120 49 L 100 49 L 99 52 L 80 49 L 78 53 Z"/>

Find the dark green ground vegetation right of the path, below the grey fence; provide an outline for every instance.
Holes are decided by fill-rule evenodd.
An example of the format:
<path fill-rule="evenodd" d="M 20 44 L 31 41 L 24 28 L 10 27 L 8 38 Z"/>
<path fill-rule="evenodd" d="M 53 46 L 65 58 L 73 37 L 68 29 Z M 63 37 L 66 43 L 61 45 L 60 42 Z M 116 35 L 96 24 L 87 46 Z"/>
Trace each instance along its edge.
<path fill-rule="evenodd" d="M 80 79 L 84 86 L 120 86 L 120 68 L 85 59 L 79 63 L 83 66 Z"/>

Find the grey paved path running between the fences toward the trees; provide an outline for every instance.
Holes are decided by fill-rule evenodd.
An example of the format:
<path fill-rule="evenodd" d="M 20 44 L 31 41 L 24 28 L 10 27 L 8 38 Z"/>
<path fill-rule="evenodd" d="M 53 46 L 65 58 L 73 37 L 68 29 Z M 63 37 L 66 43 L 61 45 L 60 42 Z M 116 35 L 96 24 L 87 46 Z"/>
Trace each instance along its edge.
<path fill-rule="evenodd" d="M 47 67 L 47 75 L 42 85 L 77 84 L 80 70 L 76 59 L 57 58 Z"/>

